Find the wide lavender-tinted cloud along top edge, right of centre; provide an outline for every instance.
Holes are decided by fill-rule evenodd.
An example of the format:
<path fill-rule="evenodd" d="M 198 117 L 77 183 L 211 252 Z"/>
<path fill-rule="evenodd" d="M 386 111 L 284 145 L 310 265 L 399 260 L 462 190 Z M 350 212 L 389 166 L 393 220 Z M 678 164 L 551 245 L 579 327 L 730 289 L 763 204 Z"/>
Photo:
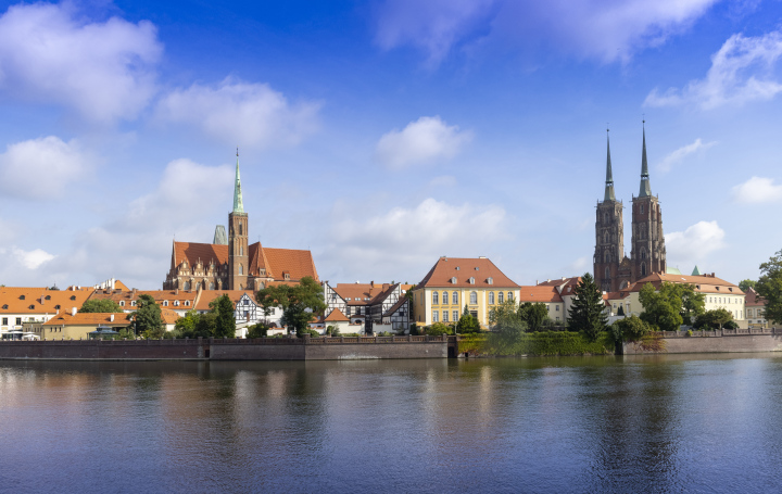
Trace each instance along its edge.
<path fill-rule="evenodd" d="M 459 45 L 553 48 L 603 62 L 628 61 L 689 28 L 717 0 L 414 0 L 387 1 L 376 40 L 383 49 L 414 46 L 430 63 Z M 548 47 L 546 47 L 548 48 Z"/>

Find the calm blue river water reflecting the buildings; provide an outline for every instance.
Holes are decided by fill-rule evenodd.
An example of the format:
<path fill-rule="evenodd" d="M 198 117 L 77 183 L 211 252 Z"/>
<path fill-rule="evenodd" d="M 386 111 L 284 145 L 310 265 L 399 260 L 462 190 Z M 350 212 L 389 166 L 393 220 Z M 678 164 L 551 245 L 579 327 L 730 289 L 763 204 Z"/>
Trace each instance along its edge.
<path fill-rule="evenodd" d="M 0 362 L 0 492 L 780 492 L 782 357 Z"/>

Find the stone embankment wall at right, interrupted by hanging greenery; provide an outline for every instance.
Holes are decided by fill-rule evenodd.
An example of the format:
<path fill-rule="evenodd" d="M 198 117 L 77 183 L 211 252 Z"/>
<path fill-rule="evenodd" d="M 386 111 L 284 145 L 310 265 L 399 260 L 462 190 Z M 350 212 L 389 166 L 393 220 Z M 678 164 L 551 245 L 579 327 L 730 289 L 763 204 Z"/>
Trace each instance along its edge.
<path fill-rule="evenodd" d="M 678 331 L 666 331 L 665 353 L 749 353 L 782 352 L 782 329 L 724 329 L 693 331 L 691 337 Z M 625 344 L 626 355 L 643 351 L 635 343 Z"/>

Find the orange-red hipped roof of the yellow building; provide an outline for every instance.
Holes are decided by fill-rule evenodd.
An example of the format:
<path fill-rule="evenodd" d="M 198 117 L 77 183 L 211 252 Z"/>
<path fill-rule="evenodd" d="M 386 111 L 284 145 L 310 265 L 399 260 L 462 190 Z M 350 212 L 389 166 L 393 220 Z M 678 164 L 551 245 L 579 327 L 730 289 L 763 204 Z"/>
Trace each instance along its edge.
<path fill-rule="evenodd" d="M 470 278 L 475 283 L 469 282 Z M 440 257 L 415 289 L 426 287 L 518 288 L 518 284 L 485 257 Z"/>

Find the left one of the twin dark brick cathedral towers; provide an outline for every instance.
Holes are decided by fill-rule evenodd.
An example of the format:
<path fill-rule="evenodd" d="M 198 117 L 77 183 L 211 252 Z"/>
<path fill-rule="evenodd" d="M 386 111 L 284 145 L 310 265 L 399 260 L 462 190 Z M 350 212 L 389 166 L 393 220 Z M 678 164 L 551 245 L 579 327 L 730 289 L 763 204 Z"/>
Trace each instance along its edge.
<path fill-rule="evenodd" d="M 594 253 L 594 278 L 606 292 L 619 289 L 619 263 L 625 254 L 622 210 L 625 205 L 614 194 L 610 139 L 607 138 L 606 189 L 603 202 L 597 203 Z"/>

